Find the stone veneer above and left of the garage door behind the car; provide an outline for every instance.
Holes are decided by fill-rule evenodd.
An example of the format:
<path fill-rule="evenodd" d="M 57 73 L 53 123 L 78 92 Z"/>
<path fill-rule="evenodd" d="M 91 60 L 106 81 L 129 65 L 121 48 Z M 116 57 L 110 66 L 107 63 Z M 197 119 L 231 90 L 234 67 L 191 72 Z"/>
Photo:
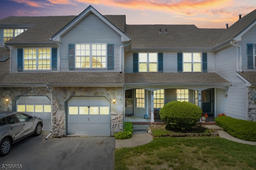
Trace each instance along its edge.
<path fill-rule="evenodd" d="M 16 96 L 47 96 L 51 99 L 49 90 L 46 87 L 0 87 L 0 112 L 11 112 L 12 100 Z"/>

